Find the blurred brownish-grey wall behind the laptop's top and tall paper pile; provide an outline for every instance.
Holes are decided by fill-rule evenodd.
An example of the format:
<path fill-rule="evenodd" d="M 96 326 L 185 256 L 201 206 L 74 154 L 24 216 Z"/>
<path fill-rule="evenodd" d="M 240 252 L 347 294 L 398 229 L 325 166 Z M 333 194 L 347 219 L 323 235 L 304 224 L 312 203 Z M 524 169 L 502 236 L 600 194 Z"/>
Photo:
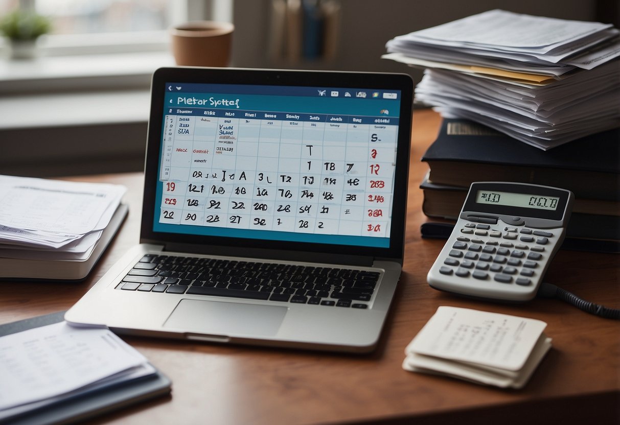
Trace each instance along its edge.
<path fill-rule="evenodd" d="M 597 20 L 599 7 L 594 0 L 563 0 L 561 7 L 558 7 L 558 2 L 539 0 L 340 0 L 342 7 L 337 57 L 332 61 L 287 63 L 268 57 L 269 32 L 265 28 L 269 28 L 271 4 L 271 0 L 234 2 L 234 66 L 407 72 L 414 76 L 416 82 L 422 75 L 420 71 L 381 59 L 381 55 L 386 53 L 385 43 L 396 35 L 433 27 L 490 9 L 561 19 Z"/>

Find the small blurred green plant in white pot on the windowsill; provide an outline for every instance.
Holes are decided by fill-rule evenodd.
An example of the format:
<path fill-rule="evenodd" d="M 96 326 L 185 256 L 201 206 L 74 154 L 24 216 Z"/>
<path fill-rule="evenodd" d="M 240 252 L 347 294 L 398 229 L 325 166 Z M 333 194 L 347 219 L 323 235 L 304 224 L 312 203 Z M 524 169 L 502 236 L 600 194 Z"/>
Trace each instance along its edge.
<path fill-rule="evenodd" d="M 9 41 L 11 58 L 14 59 L 33 58 L 37 38 L 50 30 L 50 20 L 34 12 L 18 9 L 0 19 L 0 33 Z"/>

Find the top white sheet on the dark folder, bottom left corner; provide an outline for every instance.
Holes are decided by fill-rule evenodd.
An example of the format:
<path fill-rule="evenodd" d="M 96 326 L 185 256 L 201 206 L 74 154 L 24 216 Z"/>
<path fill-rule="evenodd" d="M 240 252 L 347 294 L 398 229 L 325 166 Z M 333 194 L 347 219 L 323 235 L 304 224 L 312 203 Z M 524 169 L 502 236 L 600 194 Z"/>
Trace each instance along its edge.
<path fill-rule="evenodd" d="M 0 410 L 56 397 L 146 364 L 107 328 L 66 322 L 0 338 Z"/>

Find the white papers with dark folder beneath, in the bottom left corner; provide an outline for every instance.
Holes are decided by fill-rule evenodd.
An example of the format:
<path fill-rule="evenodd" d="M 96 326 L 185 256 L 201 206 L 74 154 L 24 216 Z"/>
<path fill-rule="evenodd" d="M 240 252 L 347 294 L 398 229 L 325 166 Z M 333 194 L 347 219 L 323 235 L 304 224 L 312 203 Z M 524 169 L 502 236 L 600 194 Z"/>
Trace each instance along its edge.
<path fill-rule="evenodd" d="M 0 376 L 0 423 L 65 423 L 170 391 L 169 381 L 159 385 L 159 372 L 107 328 L 66 322 L 2 336 Z M 125 391 L 140 383 L 146 388 Z"/>

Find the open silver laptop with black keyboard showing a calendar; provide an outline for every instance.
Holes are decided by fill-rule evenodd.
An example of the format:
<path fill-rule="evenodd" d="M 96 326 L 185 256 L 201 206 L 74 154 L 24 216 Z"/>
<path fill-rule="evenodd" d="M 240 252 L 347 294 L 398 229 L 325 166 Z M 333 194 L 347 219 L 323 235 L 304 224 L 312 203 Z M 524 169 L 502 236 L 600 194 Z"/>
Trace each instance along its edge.
<path fill-rule="evenodd" d="M 158 69 L 140 243 L 65 320 L 372 351 L 402 269 L 412 95 L 406 74 Z"/>

